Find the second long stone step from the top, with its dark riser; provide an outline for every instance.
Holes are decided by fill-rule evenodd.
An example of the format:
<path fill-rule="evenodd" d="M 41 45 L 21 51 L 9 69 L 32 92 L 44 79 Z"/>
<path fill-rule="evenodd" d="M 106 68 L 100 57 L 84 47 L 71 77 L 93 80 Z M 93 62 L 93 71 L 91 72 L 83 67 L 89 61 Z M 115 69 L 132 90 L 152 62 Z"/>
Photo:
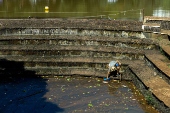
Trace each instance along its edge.
<path fill-rule="evenodd" d="M 96 45 L 96 46 L 117 46 L 139 49 L 156 49 L 158 44 L 152 39 L 134 39 L 122 37 L 104 37 L 104 36 L 1 36 L 1 45 L 27 45 L 27 44 L 54 44 L 54 45 Z"/>

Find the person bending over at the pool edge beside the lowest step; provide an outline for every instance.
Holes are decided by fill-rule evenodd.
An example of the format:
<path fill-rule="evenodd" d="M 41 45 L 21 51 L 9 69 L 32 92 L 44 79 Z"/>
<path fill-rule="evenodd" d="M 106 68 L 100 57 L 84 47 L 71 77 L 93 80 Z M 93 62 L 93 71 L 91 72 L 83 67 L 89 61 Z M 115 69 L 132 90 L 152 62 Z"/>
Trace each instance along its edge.
<path fill-rule="evenodd" d="M 120 76 L 120 72 L 119 72 L 120 71 L 120 67 L 121 67 L 121 63 L 118 60 L 117 61 L 111 61 L 109 63 L 109 66 L 108 66 L 109 70 L 107 72 L 107 80 L 109 78 L 110 73 L 114 72 L 116 70 L 117 70 L 117 76 Z M 121 76 L 120 76 L 120 79 L 121 79 Z"/>

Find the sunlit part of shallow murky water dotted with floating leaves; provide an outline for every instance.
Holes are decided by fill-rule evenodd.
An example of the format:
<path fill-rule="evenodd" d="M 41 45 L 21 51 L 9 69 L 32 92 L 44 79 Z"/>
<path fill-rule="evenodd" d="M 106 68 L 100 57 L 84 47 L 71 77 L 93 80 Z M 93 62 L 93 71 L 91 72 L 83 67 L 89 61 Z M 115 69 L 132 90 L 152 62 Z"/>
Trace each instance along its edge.
<path fill-rule="evenodd" d="M 156 113 L 131 82 L 96 78 L 49 78 L 44 98 L 64 112 Z"/>

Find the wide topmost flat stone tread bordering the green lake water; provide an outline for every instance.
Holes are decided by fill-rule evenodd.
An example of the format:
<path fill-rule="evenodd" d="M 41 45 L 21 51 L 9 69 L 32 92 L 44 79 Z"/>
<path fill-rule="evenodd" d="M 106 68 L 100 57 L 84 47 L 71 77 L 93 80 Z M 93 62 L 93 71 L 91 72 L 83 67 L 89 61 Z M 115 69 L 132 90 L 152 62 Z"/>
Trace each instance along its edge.
<path fill-rule="evenodd" d="M 4 28 L 79 28 L 142 31 L 140 21 L 119 21 L 99 19 L 1 19 L 0 29 Z"/>

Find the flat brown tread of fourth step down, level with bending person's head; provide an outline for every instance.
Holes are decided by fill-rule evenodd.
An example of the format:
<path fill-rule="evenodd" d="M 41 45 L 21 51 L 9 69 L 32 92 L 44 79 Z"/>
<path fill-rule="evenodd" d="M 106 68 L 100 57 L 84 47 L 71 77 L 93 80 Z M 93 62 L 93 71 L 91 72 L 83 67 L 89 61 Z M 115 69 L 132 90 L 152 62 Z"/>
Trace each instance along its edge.
<path fill-rule="evenodd" d="M 3 61 L 4 59 L 9 61 L 16 61 L 16 62 L 87 62 L 87 63 L 109 63 L 111 60 L 116 60 L 116 58 L 111 57 L 84 57 L 84 56 L 1 56 L 0 60 Z M 128 65 L 133 61 L 140 61 L 140 60 L 129 60 L 129 59 L 118 59 L 123 62 L 124 65 Z"/>

